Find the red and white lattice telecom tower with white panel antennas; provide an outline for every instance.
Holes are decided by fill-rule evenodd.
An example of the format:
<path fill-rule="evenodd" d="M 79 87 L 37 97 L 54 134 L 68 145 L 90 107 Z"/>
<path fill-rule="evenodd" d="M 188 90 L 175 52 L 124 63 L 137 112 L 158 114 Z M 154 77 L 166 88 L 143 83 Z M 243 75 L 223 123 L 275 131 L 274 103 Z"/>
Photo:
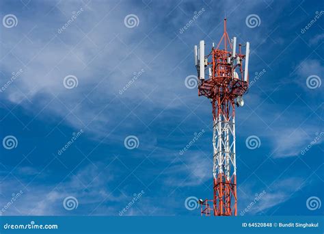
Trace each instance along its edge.
<path fill-rule="evenodd" d="M 223 43 L 222 43 L 223 42 Z M 224 44 L 224 49 L 221 49 Z M 211 52 L 205 55 L 204 40 L 194 47 L 198 70 L 198 95 L 211 100 L 213 107 L 213 200 L 200 199 L 201 214 L 237 216 L 237 163 L 235 151 L 235 106 L 243 106 L 249 77 L 249 42 L 239 44 L 226 31 Z M 245 55 L 241 53 L 245 47 Z"/>

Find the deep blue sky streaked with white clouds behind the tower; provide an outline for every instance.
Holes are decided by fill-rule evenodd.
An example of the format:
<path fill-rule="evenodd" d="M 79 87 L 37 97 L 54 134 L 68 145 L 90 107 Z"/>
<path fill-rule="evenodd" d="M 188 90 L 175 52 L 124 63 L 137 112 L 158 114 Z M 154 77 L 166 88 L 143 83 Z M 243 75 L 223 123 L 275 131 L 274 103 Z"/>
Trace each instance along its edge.
<path fill-rule="evenodd" d="M 199 216 L 185 200 L 213 196 L 211 104 L 185 78 L 196 75 L 193 45 L 218 42 L 225 15 L 229 36 L 251 44 L 254 80 L 237 109 L 239 213 L 265 191 L 245 215 L 323 214 L 306 206 L 323 200 L 319 1 L 0 4 L 2 19 L 16 17 L 0 27 L 1 140 L 16 138 L 0 147 L 0 208 L 22 191 L 2 215 Z M 129 135 L 137 148 L 125 147 Z M 251 135 L 258 148 L 247 148 Z M 71 196 L 78 205 L 66 209 Z"/>

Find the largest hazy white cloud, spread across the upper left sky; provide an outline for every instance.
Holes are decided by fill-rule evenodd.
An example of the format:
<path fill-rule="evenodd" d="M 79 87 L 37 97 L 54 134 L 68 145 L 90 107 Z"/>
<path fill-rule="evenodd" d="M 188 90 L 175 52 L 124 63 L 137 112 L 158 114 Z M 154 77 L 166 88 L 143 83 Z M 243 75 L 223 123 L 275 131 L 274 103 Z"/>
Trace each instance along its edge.
<path fill-rule="evenodd" d="M 108 5 L 100 1 L 92 1 L 89 8 L 82 2 L 75 1 L 61 1 L 53 8 L 55 2 L 51 2 L 43 5 L 49 10 L 53 8 L 44 18 L 41 15 L 39 18 L 20 16 L 21 27 L 18 28 L 18 33 L 9 34 L 8 30 L 4 31 L 6 43 L 1 45 L 4 54 L 12 48 L 14 50 L 3 58 L 1 67 L 7 74 L 20 68 L 23 68 L 24 73 L 13 86 L 5 90 L 2 98 L 22 105 L 31 114 L 38 114 L 53 99 L 53 95 L 57 96 L 68 109 L 55 99 L 38 118 L 46 114 L 57 118 L 66 117 L 64 122 L 77 129 L 83 128 L 83 123 L 87 125 L 91 122 L 87 132 L 103 136 L 106 135 L 102 131 L 103 127 L 113 128 L 126 113 L 124 105 L 121 105 L 123 109 L 116 109 L 115 103 L 105 110 L 103 107 L 115 95 L 119 95 L 118 90 L 131 80 L 133 72 L 144 68 L 144 75 L 122 96 L 118 96 L 123 103 L 150 101 L 154 105 L 146 105 L 145 109 L 151 112 L 182 105 L 172 100 L 176 95 L 192 94 L 193 90 L 184 86 L 184 79 L 189 75 L 184 73 L 187 71 L 185 62 L 192 58 L 188 55 L 191 47 L 187 49 L 181 40 L 175 38 L 173 31 L 168 34 L 159 27 L 161 22 L 165 22 L 163 17 L 174 9 L 166 7 L 164 2 L 155 4 L 160 11 L 159 18 L 150 11 L 148 14 L 139 14 L 141 7 L 137 9 L 133 5 L 117 3 Z M 194 7 L 200 10 L 198 5 Z M 230 5 L 226 2 L 224 8 L 230 8 Z M 248 7 L 254 8 L 256 5 L 258 4 L 249 4 Z M 66 23 L 71 12 L 81 7 L 84 8 L 82 14 L 62 34 L 57 34 L 57 29 Z M 134 29 L 124 26 L 124 16 L 130 11 L 138 14 L 140 20 L 139 27 Z M 53 14 L 55 17 L 52 17 Z M 241 21 L 236 19 L 244 18 L 243 15 L 231 14 L 229 17 L 232 29 L 241 28 Z M 183 25 L 180 21 L 187 22 L 187 19 L 178 15 L 169 19 L 175 25 Z M 208 17 L 202 18 L 202 22 L 207 20 Z M 219 24 L 221 25 L 221 19 Z M 35 25 L 37 26 L 29 32 Z M 200 29 L 193 27 L 193 30 Z M 85 37 L 87 33 L 89 34 Z M 17 44 L 16 34 L 25 35 L 28 39 L 23 37 Z M 54 37 L 54 34 L 57 36 Z M 186 37 L 186 43 L 190 46 L 191 32 L 185 34 L 183 40 L 187 40 Z M 27 64 L 27 67 L 21 62 Z M 85 64 L 88 66 L 85 67 Z M 190 73 L 195 73 L 193 67 Z M 78 77 L 79 86 L 66 90 L 62 85 L 66 75 Z M 85 98 L 90 90 L 93 91 Z M 152 90 L 153 93 L 147 97 Z M 26 101 L 25 96 L 32 103 Z M 187 96 L 187 101 L 193 98 L 197 98 L 195 94 Z M 73 109 L 74 107 L 76 108 Z M 69 114 L 71 109 L 72 113 Z"/>

